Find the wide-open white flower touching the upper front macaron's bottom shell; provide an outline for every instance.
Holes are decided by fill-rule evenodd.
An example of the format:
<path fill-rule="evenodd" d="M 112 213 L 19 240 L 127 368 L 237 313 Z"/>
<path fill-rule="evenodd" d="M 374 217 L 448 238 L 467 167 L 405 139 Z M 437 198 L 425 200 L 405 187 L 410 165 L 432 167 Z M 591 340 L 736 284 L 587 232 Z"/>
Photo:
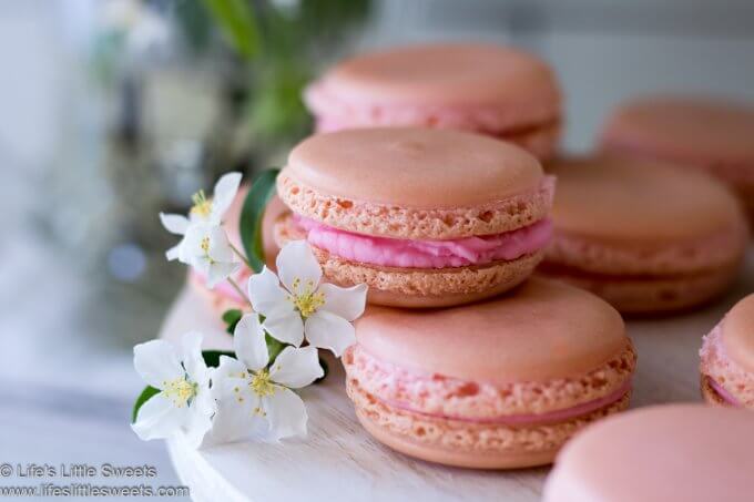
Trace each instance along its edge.
<path fill-rule="evenodd" d="M 288 243 L 277 255 L 277 276 L 264 268 L 248 279 L 254 309 L 265 316 L 264 327 L 274 338 L 314 347 L 336 356 L 356 341 L 351 321 L 364 314 L 367 286 L 340 288 L 319 284 L 322 269 L 305 240 Z"/>

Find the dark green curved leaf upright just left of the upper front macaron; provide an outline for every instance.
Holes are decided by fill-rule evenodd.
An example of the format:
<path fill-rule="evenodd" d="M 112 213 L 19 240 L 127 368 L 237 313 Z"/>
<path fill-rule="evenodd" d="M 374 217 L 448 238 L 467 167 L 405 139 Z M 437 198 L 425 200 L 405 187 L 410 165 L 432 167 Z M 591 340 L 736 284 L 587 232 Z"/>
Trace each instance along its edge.
<path fill-rule="evenodd" d="M 275 194 L 275 180 L 279 170 L 267 170 L 259 173 L 252 182 L 241 209 L 241 242 L 246 252 L 246 259 L 254 272 L 259 273 L 265 264 L 262 243 L 262 218 L 267 203 Z"/>

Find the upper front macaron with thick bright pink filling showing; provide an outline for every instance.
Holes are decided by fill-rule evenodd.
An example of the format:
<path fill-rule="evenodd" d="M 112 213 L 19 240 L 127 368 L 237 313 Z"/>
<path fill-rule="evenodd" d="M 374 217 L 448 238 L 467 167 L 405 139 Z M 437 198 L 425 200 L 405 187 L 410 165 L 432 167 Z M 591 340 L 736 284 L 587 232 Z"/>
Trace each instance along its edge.
<path fill-rule="evenodd" d="M 452 306 L 524 280 L 550 239 L 552 178 L 512 144 L 431 129 L 318 134 L 277 177 L 292 213 L 278 245 L 307 239 L 325 278 L 368 301 Z"/>

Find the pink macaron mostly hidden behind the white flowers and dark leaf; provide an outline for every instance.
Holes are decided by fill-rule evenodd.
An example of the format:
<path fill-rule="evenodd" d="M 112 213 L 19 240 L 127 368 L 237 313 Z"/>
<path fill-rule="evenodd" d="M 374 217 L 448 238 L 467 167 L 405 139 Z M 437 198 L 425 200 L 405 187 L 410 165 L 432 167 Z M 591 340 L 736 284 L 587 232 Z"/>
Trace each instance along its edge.
<path fill-rule="evenodd" d="M 225 222 L 223 227 L 227 233 L 227 238 L 236 247 L 236 249 L 243 249 L 243 244 L 241 242 L 241 209 L 246 199 L 246 194 L 248 194 L 248 185 L 242 185 L 238 188 L 238 193 L 233 201 L 233 204 L 227 209 Z M 275 244 L 274 227 L 275 222 L 281 216 L 281 214 L 287 211 L 286 206 L 281 202 L 278 197 L 273 197 L 265 208 L 265 213 L 262 219 L 262 240 L 264 245 L 265 262 L 267 267 L 275 270 L 275 257 L 279 248 Z M 252 276 L 253 272 L 242 264 L 238 272 L 234 275 L 234 280 L 236 284 L 245 288 L 246 281 Z M 225 310 L 232 308 L 247 309 L 248 305 L 246 301 L 236 293 L 236 290 L 227 281 L 222 281 L 217 284 L 213 289 L 206 287 L 204 277 L 196 274 L 193 269 L 188 273 L 188 284 L 204 297 L 212 308 L 218 313 L 223 314 Z"/>

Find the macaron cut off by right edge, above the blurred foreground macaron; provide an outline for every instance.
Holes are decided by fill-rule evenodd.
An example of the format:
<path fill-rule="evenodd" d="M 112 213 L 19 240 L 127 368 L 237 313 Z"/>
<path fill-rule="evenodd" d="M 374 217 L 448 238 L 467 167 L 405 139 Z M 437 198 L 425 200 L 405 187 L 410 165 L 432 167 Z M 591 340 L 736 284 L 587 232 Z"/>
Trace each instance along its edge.
<path fill-rule="evenodd" d="M 705 401 L 754 409 L 754 294 L 704 337 L 700 357 Z"/>

